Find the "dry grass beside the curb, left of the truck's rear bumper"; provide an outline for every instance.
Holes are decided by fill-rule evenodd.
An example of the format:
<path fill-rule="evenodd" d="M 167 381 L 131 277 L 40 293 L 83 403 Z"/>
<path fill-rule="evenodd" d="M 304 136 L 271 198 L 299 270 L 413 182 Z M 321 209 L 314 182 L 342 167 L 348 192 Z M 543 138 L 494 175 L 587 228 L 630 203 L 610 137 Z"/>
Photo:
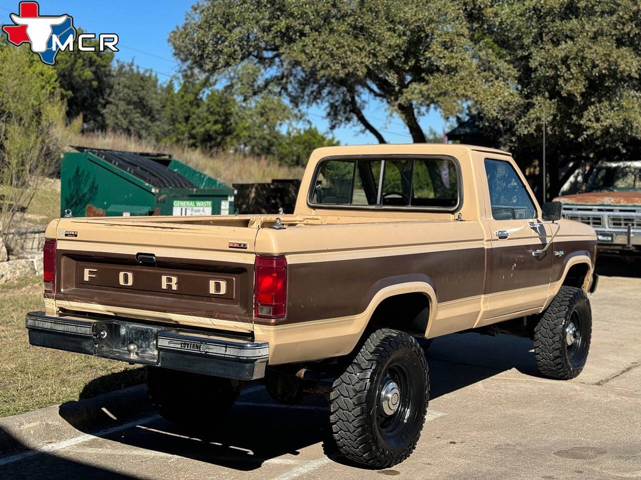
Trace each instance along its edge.
<path fill-rule="evenodd" d="M 144 381 L 142 367 L 29 345 L 24 315 L 42 308 L 40 277 L 0 285 L 0 417 Z"/>

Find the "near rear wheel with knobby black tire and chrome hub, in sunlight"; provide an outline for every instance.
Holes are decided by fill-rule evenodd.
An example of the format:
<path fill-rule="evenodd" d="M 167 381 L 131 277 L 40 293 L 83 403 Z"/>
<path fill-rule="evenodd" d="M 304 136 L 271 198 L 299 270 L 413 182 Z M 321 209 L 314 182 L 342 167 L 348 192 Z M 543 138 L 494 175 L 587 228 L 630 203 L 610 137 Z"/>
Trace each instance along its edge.
<path fill-rule="evenodd" d="M 407 333 L 377 330 L 333 383 L 331 429 L 348 460 L 388 468 L 412 454 L 429 397 L 423 349 Z"/>

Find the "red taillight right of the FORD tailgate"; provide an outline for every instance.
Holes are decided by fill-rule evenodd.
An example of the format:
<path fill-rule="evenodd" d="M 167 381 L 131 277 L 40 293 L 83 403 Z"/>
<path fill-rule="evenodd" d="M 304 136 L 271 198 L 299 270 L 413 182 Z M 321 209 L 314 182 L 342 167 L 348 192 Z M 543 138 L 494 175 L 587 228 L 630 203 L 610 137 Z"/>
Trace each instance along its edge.
<path fill-rule="evenodd" d="M 254 262 L 254 316 L 280 318 L 287 310 L 287 260 L 256 255 Z"/>

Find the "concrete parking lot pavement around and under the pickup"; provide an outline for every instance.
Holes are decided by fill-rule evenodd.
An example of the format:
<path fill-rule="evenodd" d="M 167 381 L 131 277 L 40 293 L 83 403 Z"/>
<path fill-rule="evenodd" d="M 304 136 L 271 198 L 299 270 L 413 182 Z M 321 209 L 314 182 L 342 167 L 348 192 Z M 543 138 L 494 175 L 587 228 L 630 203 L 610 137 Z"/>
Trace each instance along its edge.
<path fill-rule="evenodd" d="M 10 461 L 0 453 L 0 478 L 641 479 L 638 270 L 622 264 L 615 273 L 626 276 L 602 276 L 590 299 L 590 358 L 575 380 L 540 378 L 527 339 L 435 340 L 428 421 L 417 450 L 394 468 L 344 465 L 322 398 L 283 406 L 253 384 L 209 435 L 146 412 L 97 436 L 79 426 L 78 435 Z"/>

